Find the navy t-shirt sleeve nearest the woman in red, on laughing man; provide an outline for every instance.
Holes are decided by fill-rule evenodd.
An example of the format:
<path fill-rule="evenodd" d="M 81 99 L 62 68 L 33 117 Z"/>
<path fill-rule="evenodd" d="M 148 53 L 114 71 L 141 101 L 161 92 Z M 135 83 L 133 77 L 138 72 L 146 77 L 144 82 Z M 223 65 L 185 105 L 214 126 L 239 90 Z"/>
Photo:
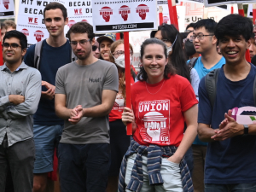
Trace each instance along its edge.
<path fill-rule="evenodd" d="M 199 105 L 198 105 L 198 123 L 211 125 L 212 107 L 209 100 L 205 85 L 205 77 L 201 79 L 198 89 Z"/>

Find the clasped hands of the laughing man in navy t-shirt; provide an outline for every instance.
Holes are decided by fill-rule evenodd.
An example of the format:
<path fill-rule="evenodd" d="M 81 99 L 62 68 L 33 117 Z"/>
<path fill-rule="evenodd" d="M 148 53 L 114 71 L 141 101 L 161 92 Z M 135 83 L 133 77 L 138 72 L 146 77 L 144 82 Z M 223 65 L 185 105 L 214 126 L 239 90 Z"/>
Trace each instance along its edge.
<path fill-rule="evenodd" d="M 218 126 L 218 129 L 214 130 L 214 135 L 211 137 L 214 141 L 224 141 L 227 138 L 242 135 L 244 127 L 238 124 L 234 118 L 231 117 L 232 111 L 224 114 L 224 120 Z"/>

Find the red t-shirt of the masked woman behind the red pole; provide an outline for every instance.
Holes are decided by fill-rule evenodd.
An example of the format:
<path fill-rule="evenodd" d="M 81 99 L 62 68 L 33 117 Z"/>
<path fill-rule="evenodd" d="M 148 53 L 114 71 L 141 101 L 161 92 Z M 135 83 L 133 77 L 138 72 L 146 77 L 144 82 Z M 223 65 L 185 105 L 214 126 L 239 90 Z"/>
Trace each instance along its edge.
<path fill-rule="evenodd" d="M 131 77 L 131 84 L 134 84 L 134 80 Z M 117 93 L 115 97 L 115 101 L 113 104 L 113 108 L 111 112 L 109 113 L 109 121 L 114 121 L 117 119 L 122 119 L 122 113 L 125 108 L 125 99 L 121 93 Z"/>

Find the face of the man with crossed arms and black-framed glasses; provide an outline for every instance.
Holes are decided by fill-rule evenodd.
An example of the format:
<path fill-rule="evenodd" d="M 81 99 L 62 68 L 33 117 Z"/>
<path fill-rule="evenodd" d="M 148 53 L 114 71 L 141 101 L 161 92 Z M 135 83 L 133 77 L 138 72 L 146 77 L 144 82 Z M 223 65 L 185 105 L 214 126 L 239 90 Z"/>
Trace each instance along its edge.
<path fill-rule="evenodd" d="M 21 49 L 20 39 L 18 38 L 5 38 L 4 44 L 17 44 L 17 48 L 5 48 L 3 47 L 3 59 L 8 64 L 21 63 L 22 57 L 26 54 L 26 49 Z"/>

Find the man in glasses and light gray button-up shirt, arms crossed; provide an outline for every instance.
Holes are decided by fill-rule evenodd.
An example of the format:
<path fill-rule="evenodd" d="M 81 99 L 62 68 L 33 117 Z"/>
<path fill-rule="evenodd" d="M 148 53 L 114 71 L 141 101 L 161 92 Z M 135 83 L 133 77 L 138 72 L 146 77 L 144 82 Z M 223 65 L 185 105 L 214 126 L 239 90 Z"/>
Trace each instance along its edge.
<path fill-rule="evenodd" d="M 22 61 L 27 41 L 22 32 L 6 32 L 0 67 L 0 189 L 8 170 L 15 192 L 32 191 L 35 147 L 32 114 L 38 108 L 41 75 Z M 8 168 L 9 167 L 9 168 Z"/>

